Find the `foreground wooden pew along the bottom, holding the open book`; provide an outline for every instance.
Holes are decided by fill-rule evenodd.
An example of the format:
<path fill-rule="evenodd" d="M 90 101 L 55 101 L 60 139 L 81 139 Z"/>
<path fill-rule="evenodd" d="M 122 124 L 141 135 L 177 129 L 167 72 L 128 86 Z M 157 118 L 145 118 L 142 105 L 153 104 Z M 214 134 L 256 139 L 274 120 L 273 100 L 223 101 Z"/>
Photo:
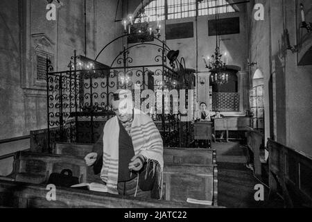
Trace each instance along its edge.
<path fill-rule="evenodd" d="M 63 187 L 57 189 L 56 200 L 49 201 L 46 200 L 46 194 L 48 191 L 46 185 L 0 180 L 0 205 L 3 207 L 21 208 L 216 208 L 215 206 L 168 200 L 147 200 L 132 197 L 125 198 L 120 195 Z"/>

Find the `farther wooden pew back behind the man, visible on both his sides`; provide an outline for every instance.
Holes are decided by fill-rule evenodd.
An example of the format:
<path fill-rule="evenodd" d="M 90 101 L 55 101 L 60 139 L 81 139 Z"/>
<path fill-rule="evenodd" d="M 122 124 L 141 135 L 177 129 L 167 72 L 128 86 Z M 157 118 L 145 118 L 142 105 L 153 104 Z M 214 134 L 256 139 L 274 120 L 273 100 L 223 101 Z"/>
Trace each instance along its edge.
<path fill-rule="evenodd" d="M 56 143 L 55 154 L 73 155 L 85 157 L 87 153 L 92 152 L 93 144 L 69 144 Z M 164 148 L 165 164 L 192 164 L 196 165 L 214 165 L 216 164 L 216 150 L 207 148 Z"/>

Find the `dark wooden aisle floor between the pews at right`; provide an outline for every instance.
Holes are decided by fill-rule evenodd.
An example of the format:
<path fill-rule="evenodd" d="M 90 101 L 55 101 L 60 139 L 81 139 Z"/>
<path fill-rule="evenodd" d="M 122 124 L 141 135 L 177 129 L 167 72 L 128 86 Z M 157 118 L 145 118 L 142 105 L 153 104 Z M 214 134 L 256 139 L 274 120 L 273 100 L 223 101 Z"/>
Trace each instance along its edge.
<path fill-rule="evenodd" d="M 268 188 L 264 186 L 264 200 L 254 200 L 254 185 L 261 184 L 245 167 L 247 148 L 239 142 L 216 142 L 218 164 L 218 205 L 233 208 L 284 207 L 277 196 L 268 200 Z"/>

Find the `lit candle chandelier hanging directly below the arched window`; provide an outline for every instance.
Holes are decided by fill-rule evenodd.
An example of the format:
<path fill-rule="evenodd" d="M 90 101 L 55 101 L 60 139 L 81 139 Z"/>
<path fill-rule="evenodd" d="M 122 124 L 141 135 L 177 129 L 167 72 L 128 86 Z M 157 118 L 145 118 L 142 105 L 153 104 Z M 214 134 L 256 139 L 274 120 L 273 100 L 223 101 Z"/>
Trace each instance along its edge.
<path fill-rule="evenodd" d="M 135 17 L 133 15 L 128 15 L 127 19 L 123 19 L 123 33 L 132 35 L 143 36 L 153 36 L 159 38 L 161 25 L 159 24 L 159 19 L 157 19 L 157 26 L 155 30 L 150 27 L 150 17 L 146 15 L 143 1 L 141 1 L 141 9 L 138 12 L 139 17 L 137 22 L 135 22 Z"/>

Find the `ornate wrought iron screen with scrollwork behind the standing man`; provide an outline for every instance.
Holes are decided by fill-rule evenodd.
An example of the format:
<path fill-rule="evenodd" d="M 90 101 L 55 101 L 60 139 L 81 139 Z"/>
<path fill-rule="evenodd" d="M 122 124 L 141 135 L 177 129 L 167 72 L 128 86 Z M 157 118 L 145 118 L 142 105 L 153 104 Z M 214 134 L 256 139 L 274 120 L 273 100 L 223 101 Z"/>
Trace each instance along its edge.
<path fill-rule="evenodd" d="M 132 62 L 127 49 L 119 53 L 114 60 L 117 65 L 123 65 L 119 67 L 79 69 L 77 65 L 79 56 L 76 56 L 75 51 L 69 62 L 68 71 L 53 72 L 53 67 L 47 59 L 48 149 L 51 151 L 55 140 L 96 142 L 103 132 L 105 122 L 114 116 L 110 99 L 116 89 L 134 90 L 135 84 L 139 85 L 141 92 L 144 89 L 152 91 L 162 89 L 162 92 L 164 89 L 168 91 L 179 89 L 180 85 L 176 84 L 180 78 L 179 74 L 165 64 L 166 50 L 163 47 L 158 51 L 161 55 L 155 57 L 155 65 L 133 67 L 126 65 Z M 150 83 L 150 76 L 153 76 L 153 83 Z M 135 96 L 135 92 L 133 95 Z M 169 97 L 171 100 L 167 110 L 169 112 L 165 112 L 165 96 L 161 98 L 162 114 L 155 113 L 157 103 L 148 106 L 150 109 L 144 111 L 155 121 L 164 146 L 180 146 L 180 120 L 178 114 L 172 113 L 173 98 Z M 49 130 L 50 128 L 56 130 Z"/>

